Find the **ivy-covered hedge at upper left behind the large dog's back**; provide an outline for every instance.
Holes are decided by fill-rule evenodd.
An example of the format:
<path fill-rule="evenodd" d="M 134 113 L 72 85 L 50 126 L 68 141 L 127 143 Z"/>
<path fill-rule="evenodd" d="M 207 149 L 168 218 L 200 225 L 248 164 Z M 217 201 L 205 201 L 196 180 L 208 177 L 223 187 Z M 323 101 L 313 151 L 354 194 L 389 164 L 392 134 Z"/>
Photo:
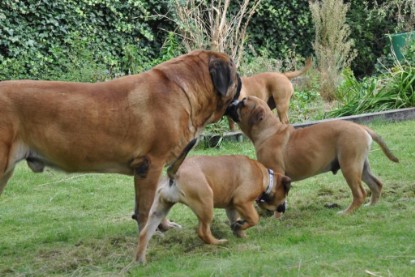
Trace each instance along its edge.
<path fill-rule="evenodd" d="M 165 1 L 3 0 L 0 2 L 0 80 L 45 78 L 71 63 L 81 40 L 108 73 L 140 71 L 158 56 L 171 23 Z M 133 55 L 136 61 L 124 58 Z M 138 62 L 139 61 L 139 62 Z M 65 68 L 63 66 L 63 70 Z"/>

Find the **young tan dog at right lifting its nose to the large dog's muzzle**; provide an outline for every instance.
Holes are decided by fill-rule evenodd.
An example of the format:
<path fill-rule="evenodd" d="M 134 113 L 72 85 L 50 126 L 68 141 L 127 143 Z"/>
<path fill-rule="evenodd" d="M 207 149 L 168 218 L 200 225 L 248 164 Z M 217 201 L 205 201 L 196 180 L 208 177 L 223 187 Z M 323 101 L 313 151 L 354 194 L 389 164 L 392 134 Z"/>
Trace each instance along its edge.
<path fill-rule="evenodd" d="M 372 192 L 370 204 L 380 198 L 382 183 L 372 175 L 367 158 L 372 140 L 391 161 L 398 162 L 381 137 L 356 123 L 336 120 L 296 130 L 273 116 L 264 101 L 251 96 L 239 102 L 231 115 L 254 143 L 258 161 L 276 173 L 298 181 L 341 169 L 353 194 L 352 204 L 343 213 L 353 212 L 365 201 L 362 180 Z"/>

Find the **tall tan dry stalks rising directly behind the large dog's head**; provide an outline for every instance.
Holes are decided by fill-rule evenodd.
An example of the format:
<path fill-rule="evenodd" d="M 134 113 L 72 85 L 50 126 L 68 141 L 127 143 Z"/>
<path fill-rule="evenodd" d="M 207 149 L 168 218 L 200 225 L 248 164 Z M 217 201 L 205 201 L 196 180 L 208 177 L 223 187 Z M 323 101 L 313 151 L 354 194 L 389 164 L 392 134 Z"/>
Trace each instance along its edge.
<path fill-rule="evenodd" d="M 235 16 L 229 13 L 230 0 L 174 0 L 176 24 L 187 51 L 209 48 L 227 52 L 236 66 L 242 58 L 246 29 L 262 0 L 244 0 Z"/>

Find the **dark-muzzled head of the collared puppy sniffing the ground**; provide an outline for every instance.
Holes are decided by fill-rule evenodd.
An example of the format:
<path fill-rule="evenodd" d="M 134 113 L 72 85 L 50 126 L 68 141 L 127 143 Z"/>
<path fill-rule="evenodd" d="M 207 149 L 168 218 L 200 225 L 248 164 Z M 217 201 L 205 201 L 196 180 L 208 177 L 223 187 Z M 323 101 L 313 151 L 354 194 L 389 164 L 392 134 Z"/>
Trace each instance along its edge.
<path fill-rule="evenodd" d="M 270 212 L 273 212 L 276 218 L 281 217 L 286 209 L 286 198 L 291 188 L 291 179 L 282 174 L 274 174 L 274 186 L 271 192 L 264 192 L 258 198 L 258 206 Z"/>

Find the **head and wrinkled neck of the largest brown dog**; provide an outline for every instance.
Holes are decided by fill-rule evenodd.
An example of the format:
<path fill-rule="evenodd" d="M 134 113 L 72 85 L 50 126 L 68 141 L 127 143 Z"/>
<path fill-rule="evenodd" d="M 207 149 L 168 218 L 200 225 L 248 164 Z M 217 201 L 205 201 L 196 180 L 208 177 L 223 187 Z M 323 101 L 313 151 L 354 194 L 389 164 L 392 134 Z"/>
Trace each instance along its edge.
<path fill-rule="evenodd" d="M 187 98 L 193 127 L 218 121 L 238 99 L 242 87 L 235 64 L 225 53 L 196 50 L 153 68 L 154 86 Z M 165 97 L 163 97 L 165 99 Z"/>

